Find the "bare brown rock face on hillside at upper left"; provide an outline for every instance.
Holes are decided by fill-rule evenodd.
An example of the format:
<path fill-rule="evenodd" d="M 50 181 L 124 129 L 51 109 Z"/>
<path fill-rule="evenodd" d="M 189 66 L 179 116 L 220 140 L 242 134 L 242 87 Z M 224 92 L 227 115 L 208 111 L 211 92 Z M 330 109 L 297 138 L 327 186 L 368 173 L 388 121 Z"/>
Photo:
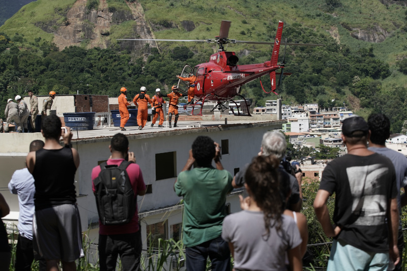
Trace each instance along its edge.
<path fill-rule="evenodd" d="M 132 37 L 153 39 L 148 23 L 143 17 L 141 5 L 138 3 L 128 3 L 131 12 L 117 11 L 109 12 L 106 0 L 100 0 L 98 10 L 89 11 L 86 9 L 86 0 L 77 0 L 73 7 L 66 14 L 66 21 L 58 28 L 49 28 L 46 25 L 41 28 L 54 34 L 53 42 L 61 50 L 67 46 L 81 45 L 85 42 L 87 48 L 100 47 L 107 48 L 110 45 L 110 27 L 125 21 L 136 21 L 133 27 Z M 131 50 L 143 47 L 146 42 L 121 42 L 122 49 Z M 151 42 L 151 46 L 156 46 Z"/>

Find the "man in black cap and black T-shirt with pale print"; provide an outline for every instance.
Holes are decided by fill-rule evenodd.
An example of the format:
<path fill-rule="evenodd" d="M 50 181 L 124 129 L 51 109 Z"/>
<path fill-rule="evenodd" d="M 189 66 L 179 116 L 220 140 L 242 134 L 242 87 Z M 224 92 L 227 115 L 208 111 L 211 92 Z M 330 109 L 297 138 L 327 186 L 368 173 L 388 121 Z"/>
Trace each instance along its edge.
<path fill-rule="evenodd" d="M 367 149 L 369 137 L 362 117 L 343 121 L 341 138 L 348 153 L 326 166 L 314 200 L 325 234 L 334 237 L 327 270 L 387 270 L 389 256 L 395 264 L 400 260 L 394 166 Z M 327 200 L 334 192 L 332 225 Z"/>

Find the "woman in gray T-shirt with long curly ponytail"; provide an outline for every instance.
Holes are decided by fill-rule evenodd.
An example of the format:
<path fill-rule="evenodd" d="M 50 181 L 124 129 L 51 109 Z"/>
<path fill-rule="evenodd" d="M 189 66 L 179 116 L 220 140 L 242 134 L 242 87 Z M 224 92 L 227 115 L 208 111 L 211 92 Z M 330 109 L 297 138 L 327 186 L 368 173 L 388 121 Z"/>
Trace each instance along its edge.
<path fill-rule="evenodd" d="M 283 215 L 276 159 L 258 156 L 246 171 L 247 209 L 227 216 L 222 238 L 229 242 L 235 270 L 302 270 L 302 239 L 292 217 Z"/>

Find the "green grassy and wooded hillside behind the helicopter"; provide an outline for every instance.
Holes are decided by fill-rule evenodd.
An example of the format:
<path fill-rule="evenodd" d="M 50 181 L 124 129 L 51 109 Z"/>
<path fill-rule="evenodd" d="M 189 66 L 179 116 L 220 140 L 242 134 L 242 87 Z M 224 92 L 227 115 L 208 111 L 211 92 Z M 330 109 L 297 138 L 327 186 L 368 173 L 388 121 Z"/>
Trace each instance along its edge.
<path fill-rule="evenodd" d="M 392 131 L 399 132 L 407 119 L 407 8 L 387 2 L 144 0 L 140 4 L 158 39 L 214 38 L 219 35 L 221 20 L 230 20 L 229 38 L 274 41 L 277 23 L 284 21 L 283 39 L 287 42 L 326 45 L 287 46 L 284 71 L 293 75 L 284 77 L 277 91 L 285 104 L 345 104 L 363 116 L 384 112 L 392 119 Z M 112 23 L 106 49 L 89 49 L 90 41 L 84 39 L 81 48 L 59 51 L 52 43 L 52 31 L 65 23 L 74 3 L 38 0 L 0 27 L 4 33 L 4 38 L 0 37 L 0 114 L 8 98 L 24 95 L 30 88 L 39 94 L 52 89 L 60 94 L 79 90 L 110 96 L 117 96 L 124 85 L 131 95 L 141 85 L 149 90 L 165 88 L 176 82 L 175 75 L 185 63 L 206 62 L 216 50 L 213 44 L 181 42 L 160 42 L 158 50 L 149 45 L 134 49 L 131 43 L 115 40 L 137 38 L 137 20 L 126 20 Z M 89 10 L 101 9 L 103 3 L 113 15 L 131 12 L 130 3 L 123 0 L 86 2 Z M 192 22 L 191 31 L 186 31 L 185 21 Z M 262 63 L 271 55 L 271 47 L 266 45 L 229 44 L 227 50 L 236 51 L 239 64 Z M 282 56 L 280 50 L 280 61 Z M 270 87 L 269 79 L 262 81 Z M 242 92 L 258 106 L 276 98 L 265 94 L 258 80 L 243 86 Z"/>

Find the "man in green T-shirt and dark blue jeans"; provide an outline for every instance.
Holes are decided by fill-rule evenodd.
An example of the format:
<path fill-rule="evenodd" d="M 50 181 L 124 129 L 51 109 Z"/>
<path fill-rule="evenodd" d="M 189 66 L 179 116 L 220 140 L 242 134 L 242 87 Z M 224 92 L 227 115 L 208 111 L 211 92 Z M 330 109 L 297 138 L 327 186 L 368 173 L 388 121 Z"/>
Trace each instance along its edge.
<path fill-rule="evenodd" d="M 197 167 L 191 169 L 194 162 Z M 232 176 L 220 162 L 219 144 L 210 137 L 198 136 L 174 185 L 177 195 L 184 197 L 187 270 L 205 271 L 208 256 L 213 271 L 230 270 L 229 247 L 220 235 L 226 216 L 226 195 L 233 189 L 231 183 Z"/>

